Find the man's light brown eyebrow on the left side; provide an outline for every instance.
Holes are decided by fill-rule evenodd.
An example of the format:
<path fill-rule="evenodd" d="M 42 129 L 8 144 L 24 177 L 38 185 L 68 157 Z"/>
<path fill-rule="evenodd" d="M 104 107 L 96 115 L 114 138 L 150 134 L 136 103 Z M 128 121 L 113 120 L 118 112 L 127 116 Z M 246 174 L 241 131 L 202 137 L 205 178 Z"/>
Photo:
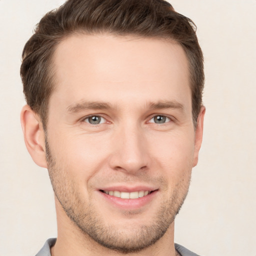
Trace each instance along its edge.
<path fill-rule="evenodd" d="M 111 108 L 110 103 L 108 102 L 99 102 L 99 101 L 82 101 L 79 103 L 71 104 L 67 107 L 69 113 L 77 113 L 86 109 L 109 109 Z"/>

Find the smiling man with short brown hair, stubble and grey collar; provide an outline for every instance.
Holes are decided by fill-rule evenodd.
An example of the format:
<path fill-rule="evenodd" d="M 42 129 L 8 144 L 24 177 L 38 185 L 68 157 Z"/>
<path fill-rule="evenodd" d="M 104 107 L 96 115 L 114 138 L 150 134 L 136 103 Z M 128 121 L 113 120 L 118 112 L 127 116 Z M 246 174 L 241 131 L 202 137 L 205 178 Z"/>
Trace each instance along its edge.
<path fill-rule="evenodd" d="M 27 41 L 21 78 L 57 214 L 37 255 L 197 255 L 173 238 L 205 112 L 192 21 L 163 0 L 68 0 Z"/>

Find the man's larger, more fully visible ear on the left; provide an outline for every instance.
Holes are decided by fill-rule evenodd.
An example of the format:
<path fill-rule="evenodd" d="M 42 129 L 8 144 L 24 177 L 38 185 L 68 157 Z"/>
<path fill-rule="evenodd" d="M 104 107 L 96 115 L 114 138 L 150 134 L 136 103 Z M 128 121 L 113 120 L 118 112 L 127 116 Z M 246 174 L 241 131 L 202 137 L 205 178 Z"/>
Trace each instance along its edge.
<path fill-rule="evenodd" d="M 28 105 L 22 107 L 20 121 L 24 134 L 26 148 L 33 161 L 44 168 L 47 168 L 45 157 L 44 130 L 40 117 Z"/>

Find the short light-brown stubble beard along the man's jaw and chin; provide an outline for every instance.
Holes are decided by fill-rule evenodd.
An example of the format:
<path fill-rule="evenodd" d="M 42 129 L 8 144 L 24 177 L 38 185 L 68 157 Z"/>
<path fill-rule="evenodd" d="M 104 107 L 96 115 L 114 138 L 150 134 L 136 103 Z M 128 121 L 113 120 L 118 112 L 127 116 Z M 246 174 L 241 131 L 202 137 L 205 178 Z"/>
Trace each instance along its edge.
<path fill-rule="evenodd" d="M 133 226 L 132 229 L 129 227 L 128 230 L 118 224 L 109 225 L 103 222 L 93 205 L 87 203 L 87 207 L 84 207 L 86 204 L 81 201 L 75 184 L 66 177 L 64 170 L 57 167 L 47 139 L 45 149 L 52 188 L 66 215 L 85 237 L 123 254 L 141 251 L 159 240 L 174 221 L 187 195 L 190 176 L 175 187 L 171 198 L 162 201 L 151 224 Z"/>

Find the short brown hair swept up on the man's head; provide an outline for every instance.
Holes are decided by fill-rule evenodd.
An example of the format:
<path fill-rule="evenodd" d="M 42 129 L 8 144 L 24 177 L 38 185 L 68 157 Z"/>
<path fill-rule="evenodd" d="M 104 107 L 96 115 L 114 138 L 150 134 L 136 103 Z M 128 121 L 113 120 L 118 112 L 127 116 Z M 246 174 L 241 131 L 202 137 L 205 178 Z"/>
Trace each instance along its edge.
<path fill-rule="evenodd" d="M 40 115 L 44 128 L 54 88 L 51 58 L 58 43 L 75 32 L 130 34 L 178 42 L 189 63 L 192 117 L 196 124 L 202 104 L 203 55 L 195 25 L 189 18 L 164 0 L 67 0 L 41 18 L 22 52 L 20 75 L 25 99 Z"/>

